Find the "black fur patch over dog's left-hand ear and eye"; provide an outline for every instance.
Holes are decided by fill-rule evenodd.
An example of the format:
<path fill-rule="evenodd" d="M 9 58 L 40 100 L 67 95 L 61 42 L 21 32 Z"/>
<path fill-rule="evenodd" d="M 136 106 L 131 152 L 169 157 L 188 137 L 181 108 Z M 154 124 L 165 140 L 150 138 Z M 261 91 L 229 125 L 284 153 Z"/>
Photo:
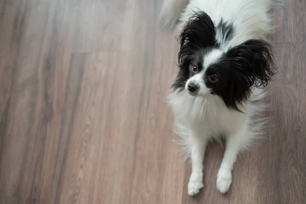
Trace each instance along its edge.
<path fill-rule="evenodd" d="M 203 11 L 197 11 L 184 25 L 179 38 L 179 73 L 172 84 L 172 89 L 184 89 L 190 77 L 192 63 L 202 63 L 203 55 L 213 47 L 218 47 L 215 39 L 216 30 L 212 19 Z M 198 64 L 202 68 L 201 64 Z"/>

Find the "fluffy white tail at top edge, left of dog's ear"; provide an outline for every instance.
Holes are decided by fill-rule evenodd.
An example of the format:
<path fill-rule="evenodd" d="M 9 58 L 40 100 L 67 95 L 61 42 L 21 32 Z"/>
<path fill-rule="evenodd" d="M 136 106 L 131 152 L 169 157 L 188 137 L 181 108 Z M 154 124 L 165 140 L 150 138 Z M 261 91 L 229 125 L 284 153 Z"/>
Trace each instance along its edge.
<path fill-rule="evenodd" d="M 160 27 L 166 30 L 172 29 L 188 3 L 189 0 L 164 0 L 159 16 Z"/>

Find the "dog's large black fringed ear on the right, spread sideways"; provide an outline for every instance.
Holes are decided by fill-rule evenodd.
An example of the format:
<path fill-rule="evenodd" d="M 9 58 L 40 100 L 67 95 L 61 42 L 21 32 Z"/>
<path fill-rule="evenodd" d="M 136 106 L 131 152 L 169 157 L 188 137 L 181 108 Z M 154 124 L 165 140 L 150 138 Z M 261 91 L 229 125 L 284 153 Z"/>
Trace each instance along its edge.
<path fill-rule="evenodd" d="M 226 63 L 230 64 L 232 94 L 237 104 L 251 93 L 251 87 L 264 88 L 277 72 L 271 46 L 263 40 L 248 40 L 230 48 Z"/>

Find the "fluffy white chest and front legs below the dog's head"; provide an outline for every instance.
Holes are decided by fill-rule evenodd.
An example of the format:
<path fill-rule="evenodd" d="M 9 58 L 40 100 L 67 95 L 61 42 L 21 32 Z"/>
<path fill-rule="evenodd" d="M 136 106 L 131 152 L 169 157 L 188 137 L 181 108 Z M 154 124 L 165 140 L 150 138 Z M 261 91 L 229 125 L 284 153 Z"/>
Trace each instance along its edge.
<path fill-rule="evenodd" d="M 211 139 L 226 138 L 226 150 L 217 175 L 217 189 L 227 192 L 232 183 L 232 168 L 239 151 L 247 148 L 251 141 L 260 136 L 267 118 L 255 116 L 267 105 L 255 103 L 265 96 L 257 90 L 252 98 L 240 107 L 243 113 L 228 110 L 222 99 L 216 95 L 193 97 L 186 91 L 173 92 L 169 103 L 175 116 L 177 134 L 183 138 L 187 156 L 191 158 L 192 173 L 188 184 L 188 194 L 195 195 L 203 187 L 203 157 L 207 143 Z"/>

